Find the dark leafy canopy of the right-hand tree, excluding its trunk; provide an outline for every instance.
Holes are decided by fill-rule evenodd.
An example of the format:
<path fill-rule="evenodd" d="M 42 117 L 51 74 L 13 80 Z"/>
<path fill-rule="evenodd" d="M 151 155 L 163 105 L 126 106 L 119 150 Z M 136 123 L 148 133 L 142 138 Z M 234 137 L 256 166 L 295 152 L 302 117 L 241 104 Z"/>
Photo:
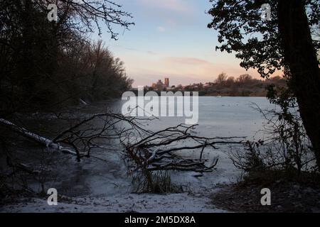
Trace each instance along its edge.
<path fill-rule="evenodd" d="M 208 13 L 213 20 L 208 28 L 218 31 L 216 50 L 233 52 L 241 60 L 240 66 L 246 70 L 257 69 L 262 77 L 269 77 L 276 70 L 284 69 L 289 75 L 284 63 L 277 26 L 278 1 L 250 0 L 210 0 L 213 8 Z M 270 21 L 263 21 L 262 4 L 270 4 Z M 314 48 L 320 49 L 319 1 L 304 1 L 309 26 L 313 34 Z"/>

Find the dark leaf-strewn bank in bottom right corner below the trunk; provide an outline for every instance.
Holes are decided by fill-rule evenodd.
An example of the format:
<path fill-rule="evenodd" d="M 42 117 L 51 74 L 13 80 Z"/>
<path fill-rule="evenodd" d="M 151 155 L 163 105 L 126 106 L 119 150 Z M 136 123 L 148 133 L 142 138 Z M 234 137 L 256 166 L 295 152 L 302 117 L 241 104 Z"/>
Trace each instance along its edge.
<path fill-rule="evenodd" d="M 220 209 L 235 212 L 320 212 L 320 175 L 281 171 L 251 174 L 238 184 L 221 186 L 211 197 Z M 262 188 L 271 191 L 271 206 L 262 206 Z"/>

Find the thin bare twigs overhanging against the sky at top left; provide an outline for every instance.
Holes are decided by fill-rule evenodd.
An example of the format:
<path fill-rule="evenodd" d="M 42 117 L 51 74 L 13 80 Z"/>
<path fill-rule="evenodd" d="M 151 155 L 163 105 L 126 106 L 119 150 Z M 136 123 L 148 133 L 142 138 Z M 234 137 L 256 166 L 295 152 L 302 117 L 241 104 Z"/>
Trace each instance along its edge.
<path fill-rule="evenodd" d="M 34 0 L 34 2 L 43 11 L 47 10 L 48 4 L 57 4 L 57 28 L 65 24 L 69 29 L 76 29 L 80 33 L 87 33 L 93 32 L 96 27 L 99 35 L 101 35 L 101 23 L 104 23 L 107 26 L 107 32 L 111 34 L 111 38 L 117 40 L 119 33 L 114 31 L 113 26 L 129 29 L 129 26 L 134 25 L 132 21 L 127 21 L 127 18 L 132 19 L 131 13 L 123 11 L 122 6 L 114 1 Z"/>

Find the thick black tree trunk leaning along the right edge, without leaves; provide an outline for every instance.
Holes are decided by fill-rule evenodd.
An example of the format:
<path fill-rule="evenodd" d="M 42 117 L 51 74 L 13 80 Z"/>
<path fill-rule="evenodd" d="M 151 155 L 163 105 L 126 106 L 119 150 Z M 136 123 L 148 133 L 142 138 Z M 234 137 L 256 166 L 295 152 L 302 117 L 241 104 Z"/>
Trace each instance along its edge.
<path fill-rule="evenodd" d="M 306 133 L 320 170 L 320 70 L 303 0 L 278 1 L 277 18 L 289 87 L 299 104 Z"/>

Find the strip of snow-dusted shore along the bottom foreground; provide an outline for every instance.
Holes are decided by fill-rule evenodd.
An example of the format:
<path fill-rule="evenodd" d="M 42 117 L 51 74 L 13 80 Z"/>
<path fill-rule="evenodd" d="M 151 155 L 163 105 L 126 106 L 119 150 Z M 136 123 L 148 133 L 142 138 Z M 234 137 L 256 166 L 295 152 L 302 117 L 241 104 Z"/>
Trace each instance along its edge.
<path fill-rule="evenodd" d="M 215 209 L 210 199 L 203 195 L 182 194 L 127 194 L 107 197 L 79 197 L 71 201 L 58 202 L 58 206 L 48 206 L 45 199 L 31 199 L 29 202 L 3 206 L 0 212 L 226 212 Z"/>

